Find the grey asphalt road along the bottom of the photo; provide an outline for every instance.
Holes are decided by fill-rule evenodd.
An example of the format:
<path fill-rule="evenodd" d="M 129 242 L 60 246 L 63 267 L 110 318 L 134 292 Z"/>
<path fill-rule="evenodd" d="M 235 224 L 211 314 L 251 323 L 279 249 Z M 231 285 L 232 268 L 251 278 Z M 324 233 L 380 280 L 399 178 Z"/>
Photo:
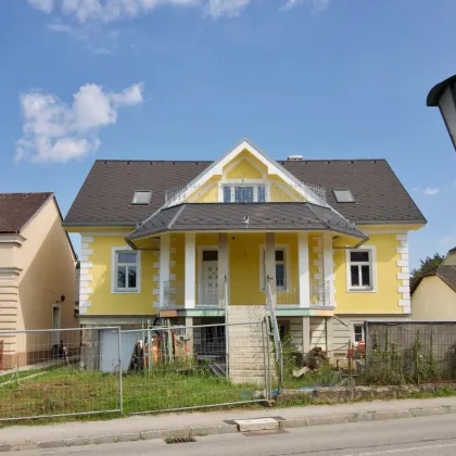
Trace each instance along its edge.
<path fill-rule="evenodd" d="M 21 456 L 45 455 L 217 455 L 217 456 L 449 456 L 456 455 L 456 415 L 321 426 L 282 433 L 226 434 L 168 445 L 141 441 L 21 452 Z"/>

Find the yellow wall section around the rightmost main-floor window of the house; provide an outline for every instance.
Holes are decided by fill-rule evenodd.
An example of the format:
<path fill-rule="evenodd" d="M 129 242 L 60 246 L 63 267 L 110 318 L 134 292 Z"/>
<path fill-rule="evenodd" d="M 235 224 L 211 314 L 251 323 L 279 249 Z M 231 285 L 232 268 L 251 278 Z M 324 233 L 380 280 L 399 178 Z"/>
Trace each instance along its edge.
<path fill-rule="evenodd" d="M 340 237 L 334 245 L 353 245 L 353 240 Z M 403 314 L 397 288 L 400 268 L 396 261 L 400 245 L 395 235 L 371 235 L 365 245 L 376 245 L 377 292 L 349 292 L 346 287 L 346 251 L 334 250 L 337 314 Z"/>

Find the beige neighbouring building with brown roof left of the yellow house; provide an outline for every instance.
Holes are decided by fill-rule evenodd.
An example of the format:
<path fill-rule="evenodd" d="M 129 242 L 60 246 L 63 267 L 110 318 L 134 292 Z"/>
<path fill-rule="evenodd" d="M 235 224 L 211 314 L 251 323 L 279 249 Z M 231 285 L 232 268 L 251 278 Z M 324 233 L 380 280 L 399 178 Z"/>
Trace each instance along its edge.
<path fill-rule="evenodd" d="M 43 359 L 65 334 L 2 330 L 75 328 L 76 256 L 53 193 L 0 193 L 0 360 Z"/>

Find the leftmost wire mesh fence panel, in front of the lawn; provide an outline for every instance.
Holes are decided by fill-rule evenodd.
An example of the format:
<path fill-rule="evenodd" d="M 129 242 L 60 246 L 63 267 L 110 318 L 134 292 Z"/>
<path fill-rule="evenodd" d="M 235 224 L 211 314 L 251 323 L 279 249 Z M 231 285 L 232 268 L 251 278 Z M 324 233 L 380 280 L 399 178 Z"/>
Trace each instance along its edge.
<path fill-rule="evenodd" d="M 119 337 L 118 328 L 1 331 L 0 420 L 121 411 Z"/>

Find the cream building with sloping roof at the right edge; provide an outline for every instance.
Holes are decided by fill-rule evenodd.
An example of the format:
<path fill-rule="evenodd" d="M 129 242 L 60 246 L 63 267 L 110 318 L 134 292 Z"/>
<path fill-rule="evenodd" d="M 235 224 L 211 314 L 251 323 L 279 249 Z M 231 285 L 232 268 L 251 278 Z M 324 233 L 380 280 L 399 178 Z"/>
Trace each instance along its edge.
<path fill-rule="evenodd" d="M 456 248 L 434 273 L 421 277 L 411 293 L 414 320 L 456 321 Z"/>

